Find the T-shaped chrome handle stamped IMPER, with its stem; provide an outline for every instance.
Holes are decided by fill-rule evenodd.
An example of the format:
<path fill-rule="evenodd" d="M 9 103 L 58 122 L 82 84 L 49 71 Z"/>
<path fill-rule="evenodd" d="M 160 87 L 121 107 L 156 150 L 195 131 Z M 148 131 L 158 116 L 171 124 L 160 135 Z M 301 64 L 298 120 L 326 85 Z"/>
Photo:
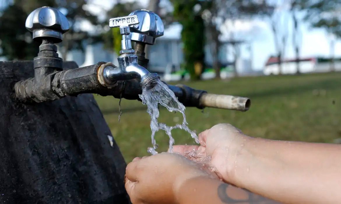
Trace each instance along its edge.
<path fill-rule="evenodd" d="M 122 35 L 121 41 L 121 51 L 120 54 L 124 53 L 134 53 L 135 51 L 132 49 L 131 40 L 129 38 L 130 27 L 132 25 L 136 25 L 139 23 L 137 15 L 132 16 L 123 16 L 109 19 L 109 27 L 110 28 L 120 28 L 120 33 Z"/>

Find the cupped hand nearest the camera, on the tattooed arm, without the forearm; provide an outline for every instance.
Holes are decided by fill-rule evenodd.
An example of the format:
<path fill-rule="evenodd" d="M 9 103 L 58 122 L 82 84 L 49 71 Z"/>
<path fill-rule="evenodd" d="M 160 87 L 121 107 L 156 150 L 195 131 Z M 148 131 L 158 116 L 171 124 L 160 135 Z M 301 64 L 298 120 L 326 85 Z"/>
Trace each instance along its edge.
<path fill-rule="evenodd" d="M 212 177 L 196 162 L 171 153 L 135 158 L 127 165 L 125 176 L 133 204 L 178 203 L 178 191 L 186 180 Z"/>

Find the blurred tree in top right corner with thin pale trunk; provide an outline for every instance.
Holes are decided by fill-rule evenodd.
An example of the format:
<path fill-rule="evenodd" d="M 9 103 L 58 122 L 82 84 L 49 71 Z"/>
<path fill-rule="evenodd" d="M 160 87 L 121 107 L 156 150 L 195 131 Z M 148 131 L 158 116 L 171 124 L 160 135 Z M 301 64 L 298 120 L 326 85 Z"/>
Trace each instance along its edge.
<path fill-rule="evenodd" d="M 330 35 L 330 69 L 335 70 L 334 46 L 335 37 L 341 37 L 341 2 L 340 0 L 306 0 L 302 2 L 302 8 L 306 9 L 307 20 L 312 27 L 325 28 Z M 335 36 L 335 37 L 334 37 Z"/>

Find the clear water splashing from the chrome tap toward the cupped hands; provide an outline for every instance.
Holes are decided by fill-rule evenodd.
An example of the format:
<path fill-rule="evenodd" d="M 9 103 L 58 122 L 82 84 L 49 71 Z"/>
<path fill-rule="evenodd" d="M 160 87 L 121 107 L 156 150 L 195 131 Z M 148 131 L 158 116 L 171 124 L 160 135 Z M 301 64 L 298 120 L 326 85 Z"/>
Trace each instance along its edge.
<path fill-rule="evenodd" d="M 175 128 L 179 128 L 187 131 L 191 134 L 191 137 L 195 140 L 196 143 L 199 143 L 198 136 L 194 131 L 188 128 L 188 123 L 186 121 L 185 109 L 186 107 L 178 101 L 174 92 L 168 88 L 166 84 L 157 79 L 155 81 L 154 87 L 143 87 L 142 94 L 139 94 L 140 99 L 143 104 L 147 104 L 147 112 L 150 115 L 150 129 L 151 129 L 151 143 L 152 147 L 148 148 L 148 152 L 152 155 L 158 154 L 155 150 L 158 148 L 158 144 L 156 143 L 154 136 L 155 133 L 159 130 L 164 130 L 166 134 L 169 136 L 169 148 L 168 151 L 173 151 L 174 138 L 172 137 L 172 130 Z M 168 111 L 180 112 L 183 116 L 182 124 L 176 124 L 175 126 L 167 126 L 164 123 L 159 123 L 158 118 L 160 116 L 158 105 L 161 104 L 167 108 Z"/>

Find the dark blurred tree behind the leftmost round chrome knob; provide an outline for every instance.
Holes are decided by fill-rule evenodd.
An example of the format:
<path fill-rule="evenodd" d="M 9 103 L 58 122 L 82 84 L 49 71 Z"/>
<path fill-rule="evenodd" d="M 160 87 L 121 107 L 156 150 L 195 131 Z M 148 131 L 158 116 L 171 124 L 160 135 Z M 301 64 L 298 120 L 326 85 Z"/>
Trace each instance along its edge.
<path fill-rule="evenodd" d="M 26 30 L 25 21 L 34 9 L 41 6 L 57 8 L 65 14 L 70 23 L 70 30 L 63 36 L 62 58 L 70 49 L 83 49 L 82 41 L 91 39 L 90 42 L 100 40 L 96 35 L 90 35 L 80 28 L 80 21 L 87 20 L 92 25 L 97 23 L 97 17 L 85 11 L 85 0 L 14 0 L 2 11 L 0 17 L 0 40 L 2 53 L 8 60 L 29 59 L 38 53 L 39 43 L 32 43 L 32 34 Z M 16 25 L 16 26 L 13 26 Z"/>

